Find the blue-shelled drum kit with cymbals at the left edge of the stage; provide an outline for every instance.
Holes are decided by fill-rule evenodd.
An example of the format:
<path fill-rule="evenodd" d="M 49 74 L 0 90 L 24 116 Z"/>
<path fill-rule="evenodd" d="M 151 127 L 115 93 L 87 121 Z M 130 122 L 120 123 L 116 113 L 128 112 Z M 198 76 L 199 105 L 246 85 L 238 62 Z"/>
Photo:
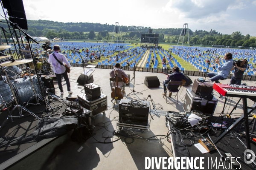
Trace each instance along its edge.
<path fill-rule="evenodd" d="M 3 48 L 2 46 L 0 46 L 0 50 Z M 7 57 L 12 56 L 1 56 L 0 59 Z M 12 61 L 0 63 L 0 107 L 5 106 L 9 112 L 8 117 L 0 126 L 0 130 L 9 118 L 11 118 L 13 122 L 12 118 L 23 117 L 23 112 L 27 112 L 35 118 L 40 119 L 37 115 L 35 115 L 35 113 L 29 111 L 26 106 L 40 105 L 41 102 L 44 102 L 46 91 L 44 85 L 41 85 L 43 83 L 41 79 L 39 78 L 40 82 L 38 82 L 36 75 L 31 74 L 31 71 L 34 70 L 26 67 L 26 63 L 32 64 L 33 59 L 12 59 Z M 41 67 L 38 70 L 43 70 L 44 73 L 51 71 L 49 63 L 46 63 L 47 64 L 45 64 L 45 62 L 41 63 Z M 17 67 L 17 65 L 22 66 Z M 8 106 L 10 105 L 13 105 L 12 111 L 9 111 Z M 46 105 L 52 108 L 48 103 Z M 18 110 L 18 116 L 12 116 L 15 109 Z"/>

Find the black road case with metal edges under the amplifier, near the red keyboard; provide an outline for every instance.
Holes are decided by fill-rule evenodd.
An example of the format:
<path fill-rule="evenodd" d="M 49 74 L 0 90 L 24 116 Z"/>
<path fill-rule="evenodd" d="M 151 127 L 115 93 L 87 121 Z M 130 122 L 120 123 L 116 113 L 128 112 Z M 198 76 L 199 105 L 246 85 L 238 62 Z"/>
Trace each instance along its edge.
<path fill-rule="evenodd" d="M 204 114 L 213 115 L 216 105 L 218 103 L 218 99 L 214 96 L 212 100 L 208 101 L 200 96 L 196 95 L 192 89 L 186 90 L 186 96 L 183 103 L 183 110 L 184 111 L 193 111 L 198 110 Z"/>

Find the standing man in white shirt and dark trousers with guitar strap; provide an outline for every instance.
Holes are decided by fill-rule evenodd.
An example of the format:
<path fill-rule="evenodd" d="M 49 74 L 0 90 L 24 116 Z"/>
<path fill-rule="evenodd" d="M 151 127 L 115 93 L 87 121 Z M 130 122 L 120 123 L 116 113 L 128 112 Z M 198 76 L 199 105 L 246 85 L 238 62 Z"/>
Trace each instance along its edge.
<path fill-rule="evenodd" d="M 61 63 L 66 63 L 67 67 L 70 68 L 70 63 L 67 61 L 67 58 L 63 55 L 63 54 L 60 54 L 59 51 L 60 51 L 60 46 L 59 45 L 54 45 L 53 47 L 53 50 L 54 50 L 54 54 L 56 56 L 56 58 L 61 62 Z M 67 76 L 67 70 L 66 70 L 66 67 L 64 65 L 61 65 L 56 59 L 55 57 L 50 54 L 49 55 L 49 59 L 48 59 L 48 62 L 50 64 L 52 64 L 52 68 L 53 68 L 53 71 L 56 75 L 56 78 L 58 80 L 58 87 L 61 91 L 61 95 L 64 94 L 64 91 L 63 91 L 63 88 L 62 88 L 62 84 L 61 84 L 61 76 L 64 77 L 65 81 L 66 81 L 66 84 L 67 84 L 67 93 L 68 94 L 72 94 L 72 91 L 70 89 L 70 81 L 69 81 L 69 78 Z"/>

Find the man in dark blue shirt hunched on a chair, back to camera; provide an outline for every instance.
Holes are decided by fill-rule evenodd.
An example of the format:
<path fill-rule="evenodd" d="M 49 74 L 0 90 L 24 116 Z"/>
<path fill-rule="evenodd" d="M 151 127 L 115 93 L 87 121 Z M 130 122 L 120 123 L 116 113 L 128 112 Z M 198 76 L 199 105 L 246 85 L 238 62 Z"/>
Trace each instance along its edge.
<path fill-rule="evenodd" d="M 163 96 L 166 96 L 166 94 L 165 94 L 166 85 L 170 81 L 180 81 L 181 82 L 182 79 L 185 81 L 188 81 L 188 79 L 185 77 L 185 75 L 183 73 L 180 73 L 180 68 L 178 68 L 177 66 L 174 66 L 172 68 L 172 74 L 170 74 L 169 77 L 167 77 L 167 80 L 163 81 Z M 169 97 L 171 97 L 171 96 L 172 96 L 172 92 L 169 93 Z"/>

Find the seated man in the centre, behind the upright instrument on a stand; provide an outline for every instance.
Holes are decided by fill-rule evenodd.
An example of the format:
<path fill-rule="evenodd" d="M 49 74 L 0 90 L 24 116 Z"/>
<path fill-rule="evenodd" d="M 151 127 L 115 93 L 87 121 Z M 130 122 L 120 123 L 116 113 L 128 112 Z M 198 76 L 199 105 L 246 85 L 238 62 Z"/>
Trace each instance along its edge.
<path fill-rule="evenodd" d="M 113 68 L 113 70 L 109 73 L 110 77 L 114 78 L 115 77 L 115 71 L 116 71 L 116 73 L 118 74 L 117 75 L 118 79 L 122 79 L 122 77 L 125 77 L 125 78 L 128 79 L 128 75 L 125 74 L 125 72 L 120 68 L 120 66 L 121 66 L 120 63 L 116 63 L 115 68 Z M 122 95 L 125 94 L 125 91 L 124 91 L 125 90 L 125 83 L 124 82 L 119 81 L 118 85 L 115 85 L 115 82 L 112 81 L 110 86 L 111 86 L 111 89 L 115 88 L 115 86 L 117 86 L 118 88 L 121 89 L 121 94 Z"/>

